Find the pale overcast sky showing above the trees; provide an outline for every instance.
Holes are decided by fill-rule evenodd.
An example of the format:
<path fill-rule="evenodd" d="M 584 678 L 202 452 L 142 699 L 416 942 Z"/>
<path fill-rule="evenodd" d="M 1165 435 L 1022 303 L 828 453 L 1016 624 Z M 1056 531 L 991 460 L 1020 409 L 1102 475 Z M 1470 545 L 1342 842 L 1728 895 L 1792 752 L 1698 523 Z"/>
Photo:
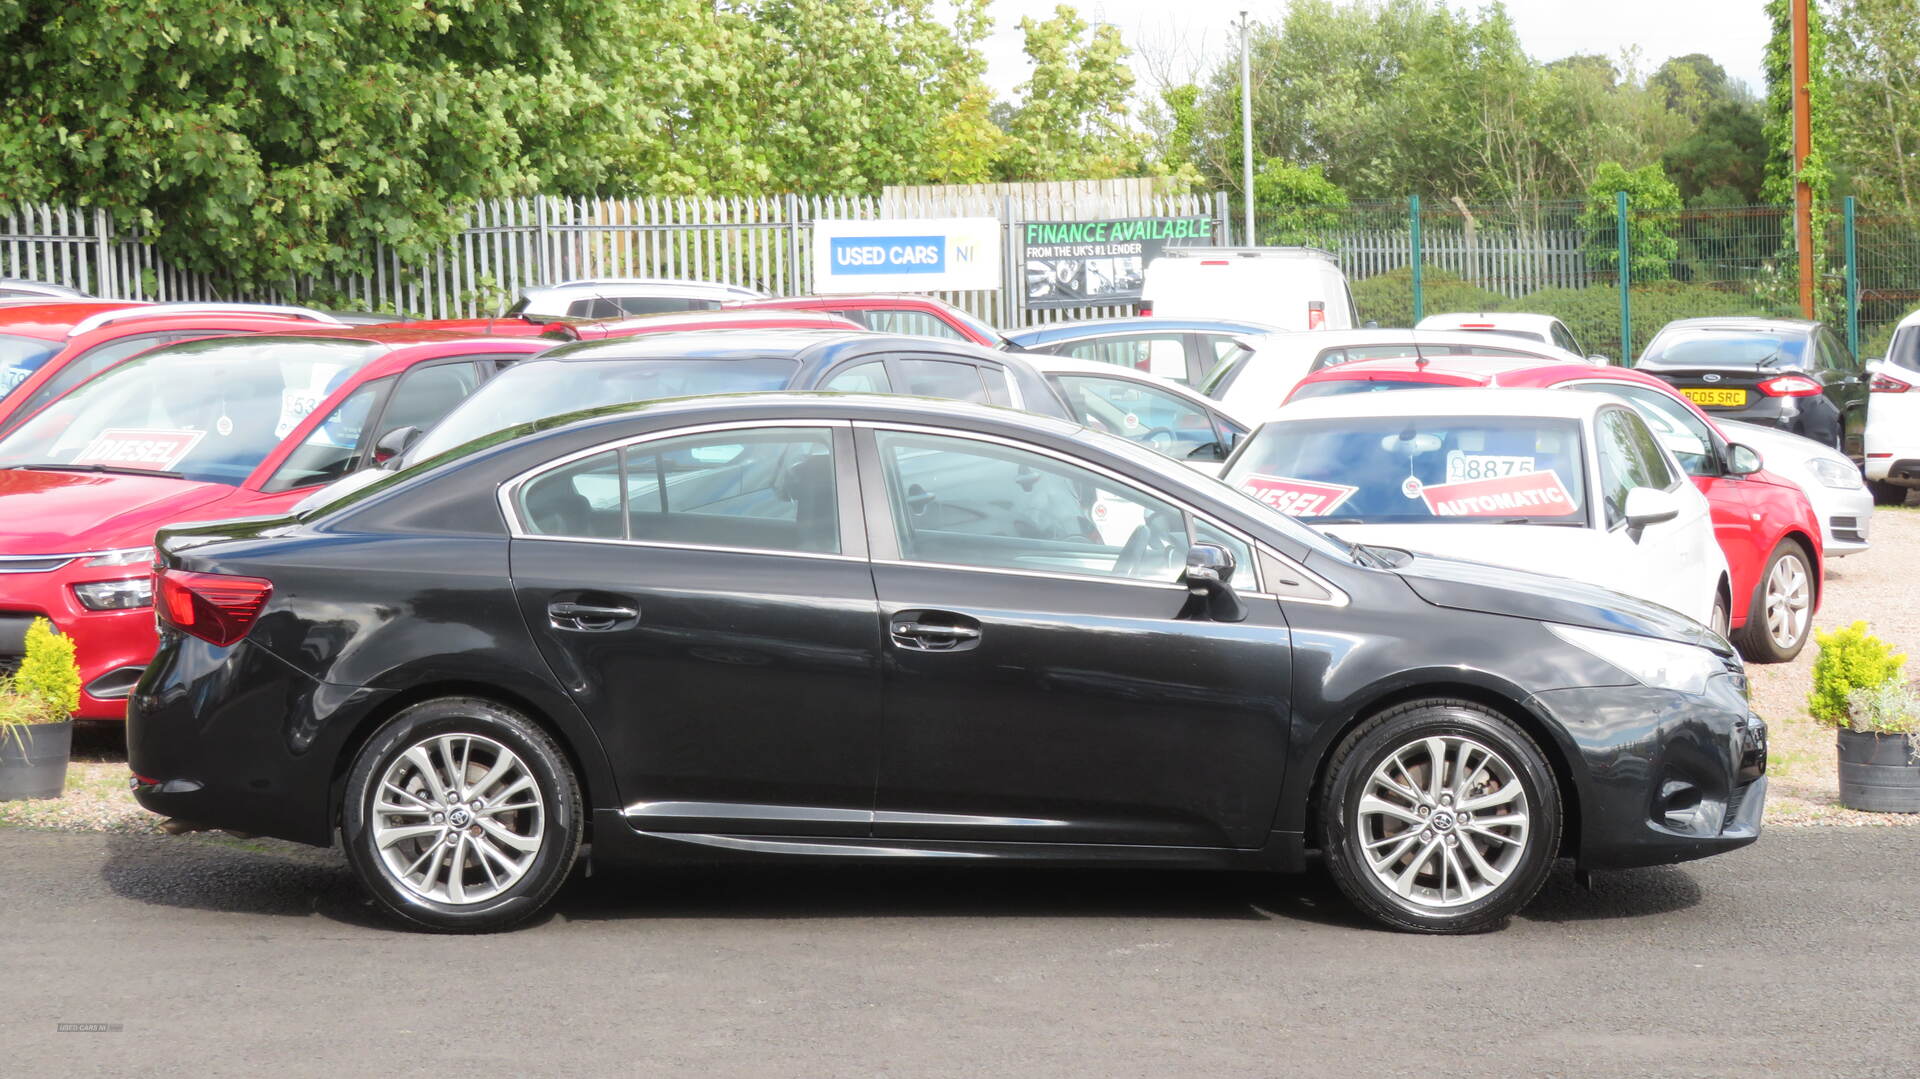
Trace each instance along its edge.
<path fill-rule="evenodd" d="M 987 81 L 1002 98 L 1025 81 L 1020 52 L 1020 19 L 1052 15 L 1060 0 L 993 0 L 993 36 L 987 40 Z M 1200 56 L 1200 71 L 1236 48 L 1233 23 L 1240 10 L 1260 21 L 1277 21 L 1283 0 L 1068 0 L 1091 23 L 1114 23 L 1135 50 L 1135 73 L 1142 90 L 1154 81 L 1146 58 Z M 1478 10 L 1480 0 L 1448 0 L 1457 10 Z M 1640 67 L 1653 71 L 1661 61 L 1690 52 L 1715 58 L 1728 77 L 1763 92 L 1761 54 L 1766 48 L 1763 0 L 1507 0 L 1507 13 L 1521 44 L 1534 60 L 1559 60 L 1574 52 L 1619 58 L 1624 48 L 1640 48 Z M 1194 65 L 1187 60 L 1185 65 Z"/>

